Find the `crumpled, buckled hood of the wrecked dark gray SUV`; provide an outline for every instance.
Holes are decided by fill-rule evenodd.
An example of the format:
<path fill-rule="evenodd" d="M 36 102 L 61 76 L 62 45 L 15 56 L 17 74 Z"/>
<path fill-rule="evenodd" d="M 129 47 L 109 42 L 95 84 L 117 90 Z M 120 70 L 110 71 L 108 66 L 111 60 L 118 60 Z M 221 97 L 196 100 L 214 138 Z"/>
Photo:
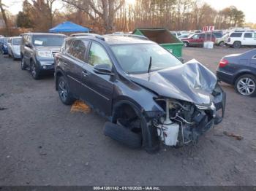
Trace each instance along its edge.
<path fill-rule="evenodd" d="M 180 66 L 146 74 L 130 74 L 129 78 L 165 98 L 195 104 L 211 104 L 217 77 L 195 59 Z"/>

